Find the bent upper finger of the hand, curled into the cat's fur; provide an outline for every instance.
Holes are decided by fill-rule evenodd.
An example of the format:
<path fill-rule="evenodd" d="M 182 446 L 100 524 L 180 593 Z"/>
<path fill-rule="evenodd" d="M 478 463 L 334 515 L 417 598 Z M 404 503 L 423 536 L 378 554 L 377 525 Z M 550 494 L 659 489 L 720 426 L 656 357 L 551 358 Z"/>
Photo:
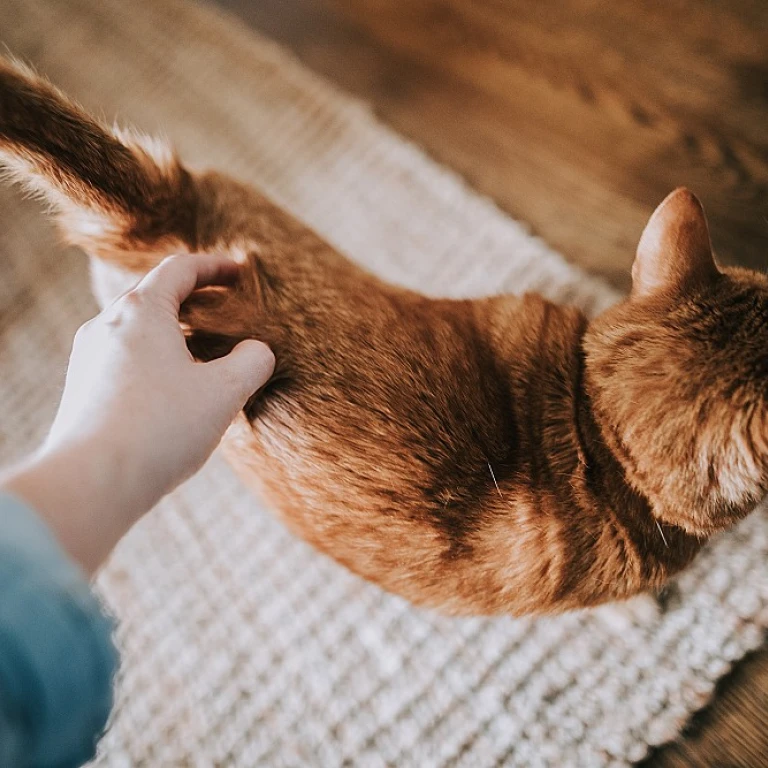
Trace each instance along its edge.
<path fill-rule="evenodd" d="M 203 253 L 170 256 L 148 272 L 135 290 L 151 298 L 168 300 L 178 311 L 196 288 L 231 283 L 239 270 L 236 262 L 221 256 Z"/>

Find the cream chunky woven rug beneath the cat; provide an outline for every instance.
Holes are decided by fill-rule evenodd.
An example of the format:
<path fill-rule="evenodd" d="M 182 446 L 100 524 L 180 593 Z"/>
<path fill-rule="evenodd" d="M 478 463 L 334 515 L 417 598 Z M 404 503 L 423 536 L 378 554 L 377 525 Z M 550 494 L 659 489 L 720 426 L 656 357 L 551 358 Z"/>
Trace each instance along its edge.
<path fill-rule="evenodd" d="M 616 297 L 275 45 L 180 0 L 0 0 L 0 42 L 107 118 L 258 183 L 352 258 L 433 294 Z M 594 223 L 585 222 L 585 226 Z M 0 192 L 0 461 L 50 423 L 84 258 Z M 214 457 L 98 587 L 124 667 L 99 766 L 626 765 L 674 738 L 768 624 L 768 517 L 665 612 L 451 620 L 292 538 Z"/>

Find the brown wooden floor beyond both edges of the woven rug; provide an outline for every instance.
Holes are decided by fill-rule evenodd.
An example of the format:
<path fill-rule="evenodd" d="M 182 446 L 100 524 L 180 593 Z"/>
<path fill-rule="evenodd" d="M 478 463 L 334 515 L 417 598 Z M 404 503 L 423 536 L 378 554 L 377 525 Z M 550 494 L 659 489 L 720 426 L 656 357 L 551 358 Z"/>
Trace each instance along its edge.
<path fill-rule="evenodd" d="M 766 0 L 217 1 L 619 287 L 681 184 L 768 267 Z M 647 765 L 768 766 L 768 651 Z"/>

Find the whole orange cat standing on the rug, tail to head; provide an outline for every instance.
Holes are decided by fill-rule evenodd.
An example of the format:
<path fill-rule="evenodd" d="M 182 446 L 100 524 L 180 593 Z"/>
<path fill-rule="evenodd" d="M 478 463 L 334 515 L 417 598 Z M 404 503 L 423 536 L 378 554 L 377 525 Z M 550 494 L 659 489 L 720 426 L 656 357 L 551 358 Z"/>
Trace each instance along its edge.
<path fill-rule="evenodd" d="M 0 63 L 0 160 L 95 257 L 102 301 L 169 253 L 239 283 L 184 308 L 201 359 L 267 342 L 274 378 L 226 439 L 297 534 L 456 614 L 657 588 L 768 491 L 768 279 L 715 265 L 673 192 L 631 295 L 593 322 L 540 296 L 432 300 L 339 255 L 259 192 L 193 174 Z"/>

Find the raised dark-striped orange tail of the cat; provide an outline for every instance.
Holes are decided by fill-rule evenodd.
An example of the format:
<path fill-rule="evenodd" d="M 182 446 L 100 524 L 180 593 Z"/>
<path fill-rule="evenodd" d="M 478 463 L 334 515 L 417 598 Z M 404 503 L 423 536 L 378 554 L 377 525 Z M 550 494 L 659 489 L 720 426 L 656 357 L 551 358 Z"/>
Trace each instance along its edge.
<path fill-rule="evenodd" d="M 196 250 L 198 192 L 171 149 L 109 129 L 0 57 L 0 167 L 59 213 L 66 239 L 144 272 Z"/>

